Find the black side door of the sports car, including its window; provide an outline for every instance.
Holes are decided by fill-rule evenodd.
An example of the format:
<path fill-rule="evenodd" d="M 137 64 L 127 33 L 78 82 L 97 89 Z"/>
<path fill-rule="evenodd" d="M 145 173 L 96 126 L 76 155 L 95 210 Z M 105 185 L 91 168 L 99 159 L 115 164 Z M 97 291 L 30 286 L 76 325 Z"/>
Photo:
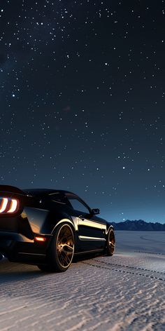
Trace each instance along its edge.
<path fill-rule="evenodd" d="M 78 239 L 80 249 L 100 250 L 105 245 L 106 224 L 92 215 L 89 206 L 75 194 L 66 194 L 78 219 Z"/>

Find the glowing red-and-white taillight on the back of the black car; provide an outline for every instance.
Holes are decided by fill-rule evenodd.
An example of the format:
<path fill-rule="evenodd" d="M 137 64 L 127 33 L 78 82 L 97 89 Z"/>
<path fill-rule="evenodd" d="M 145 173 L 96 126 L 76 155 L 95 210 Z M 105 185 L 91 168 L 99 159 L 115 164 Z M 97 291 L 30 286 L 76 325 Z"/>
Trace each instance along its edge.
<path fill-rule="evenodd" d="M 15 198 L 0 197 L 0 214 L 12 214 L 13 212 L 17 212 L 19 206 L 20 203 Z"/>

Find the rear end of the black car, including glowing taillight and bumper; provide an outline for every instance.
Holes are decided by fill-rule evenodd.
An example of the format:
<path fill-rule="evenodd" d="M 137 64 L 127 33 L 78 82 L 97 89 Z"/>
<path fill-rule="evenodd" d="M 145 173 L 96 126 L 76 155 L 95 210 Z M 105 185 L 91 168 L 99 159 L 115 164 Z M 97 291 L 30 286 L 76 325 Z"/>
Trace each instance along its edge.
<path fill-rule="evenodd" d="M 0 185 L 0 253 L 11 262 L 45 262 L 49 236 L 35 232 L 35 224 L 31 227 L 36 206 L 34 196 Z"/>

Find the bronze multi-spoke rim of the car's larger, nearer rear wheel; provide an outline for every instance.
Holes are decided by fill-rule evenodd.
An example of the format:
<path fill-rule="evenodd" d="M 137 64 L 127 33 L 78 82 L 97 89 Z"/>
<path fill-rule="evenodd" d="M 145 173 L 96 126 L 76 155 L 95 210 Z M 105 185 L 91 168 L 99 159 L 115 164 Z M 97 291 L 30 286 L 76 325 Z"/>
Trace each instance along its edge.
<path fill-rule="evenodd" d="M 57 259 L 59 265 L 67 269 L 71 264 L 74 253 L 74 236 L 69 224 L 59 228 L 56 241 Z"/>

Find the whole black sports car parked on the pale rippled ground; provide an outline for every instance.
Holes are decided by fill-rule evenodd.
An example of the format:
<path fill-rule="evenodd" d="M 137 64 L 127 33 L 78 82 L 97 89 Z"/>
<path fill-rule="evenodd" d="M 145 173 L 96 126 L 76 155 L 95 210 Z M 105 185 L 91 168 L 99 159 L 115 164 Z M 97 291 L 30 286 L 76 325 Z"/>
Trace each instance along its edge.
<path fill-rule="evenodd" d="M 113 226 L 96 214 L 69 191 L 0 185 L 0 252 L 43 271 L 66 271 L 87 253 L 113 255 Z"/>

